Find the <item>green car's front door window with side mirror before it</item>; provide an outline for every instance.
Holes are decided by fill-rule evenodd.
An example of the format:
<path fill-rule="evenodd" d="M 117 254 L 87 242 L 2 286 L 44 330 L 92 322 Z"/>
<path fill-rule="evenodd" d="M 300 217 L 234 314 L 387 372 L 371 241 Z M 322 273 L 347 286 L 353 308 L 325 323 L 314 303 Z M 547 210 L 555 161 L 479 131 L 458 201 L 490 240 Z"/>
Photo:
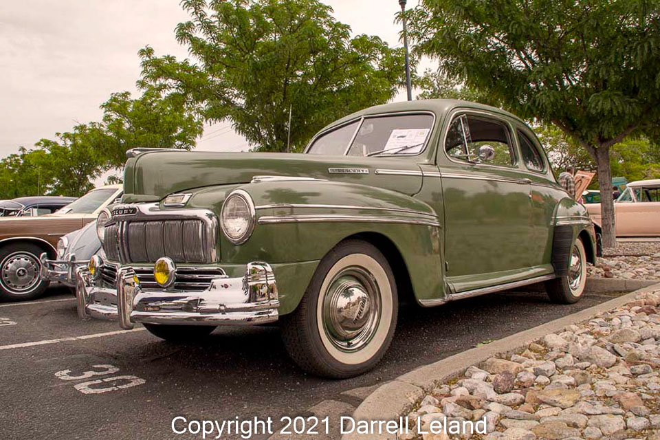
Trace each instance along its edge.
<path fill-rule="evenodd" d="M 461 136 L 465 142 L 463 151 Z M 488 164 L 511 166 L 516 163 L 509 129 L 503 122 L 487 116 L 467 114 L 456 118 L 450 126 L 445 151 L 454 159 L 478 163 L 479 148 L 485 145 L 491 146 L 495 153 Z"/>

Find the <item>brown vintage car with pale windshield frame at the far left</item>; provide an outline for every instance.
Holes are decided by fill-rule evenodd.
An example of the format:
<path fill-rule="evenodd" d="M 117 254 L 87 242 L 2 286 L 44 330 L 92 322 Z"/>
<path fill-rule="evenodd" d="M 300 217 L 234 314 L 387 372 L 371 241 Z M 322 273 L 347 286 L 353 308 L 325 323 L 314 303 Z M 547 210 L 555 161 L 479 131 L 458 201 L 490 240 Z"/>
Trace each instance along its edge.
<path fill-rule="evenodd" d="M 60 237 L 96 220 L 122 197 L 122 185 L 101 186 L 61 210 L 40 217 L 0 218 L 0 300 L 30 300 L 48 287 L 40 278 L 39 256 L 56 258 Z"/>

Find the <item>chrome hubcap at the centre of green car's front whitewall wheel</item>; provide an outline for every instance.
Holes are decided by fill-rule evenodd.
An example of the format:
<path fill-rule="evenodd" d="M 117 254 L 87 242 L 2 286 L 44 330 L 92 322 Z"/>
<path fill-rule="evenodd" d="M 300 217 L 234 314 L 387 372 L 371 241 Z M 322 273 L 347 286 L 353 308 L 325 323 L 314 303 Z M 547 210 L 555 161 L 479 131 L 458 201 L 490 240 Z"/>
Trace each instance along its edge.
<path fill-rule="evenodd" d="M 323 299 L 327 337 L 342 351 L 359 350 L 373 337 L 380 307 L 373 276 L 362 267 L 343 270 L 333 278 Z"/>

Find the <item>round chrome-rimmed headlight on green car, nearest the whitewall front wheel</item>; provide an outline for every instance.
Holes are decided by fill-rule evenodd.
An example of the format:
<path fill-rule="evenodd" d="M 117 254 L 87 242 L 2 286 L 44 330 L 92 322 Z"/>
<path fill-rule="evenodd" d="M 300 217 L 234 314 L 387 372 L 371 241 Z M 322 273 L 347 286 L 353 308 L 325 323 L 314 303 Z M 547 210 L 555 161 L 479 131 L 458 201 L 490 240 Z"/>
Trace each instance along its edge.
<path fill-rule="evenodd" d="M 254 203 L 247 192 L 235 190 L 227 197 L 220 212 L 220 225 L 235 245 L 250 238 L 254 229 Z"/>

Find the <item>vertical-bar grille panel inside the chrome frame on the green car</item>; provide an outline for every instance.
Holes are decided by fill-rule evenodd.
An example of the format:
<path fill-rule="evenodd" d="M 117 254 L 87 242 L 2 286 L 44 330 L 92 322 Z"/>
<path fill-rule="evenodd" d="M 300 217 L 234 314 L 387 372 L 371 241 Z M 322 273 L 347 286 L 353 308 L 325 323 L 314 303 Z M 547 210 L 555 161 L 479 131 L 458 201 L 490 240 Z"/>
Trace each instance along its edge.
<path fill-rule="evenodd" d="M 103 250 L 111 261 L 211 263 L 208 231 L 199 219 L 118 221 L 105 227 Z"/>

